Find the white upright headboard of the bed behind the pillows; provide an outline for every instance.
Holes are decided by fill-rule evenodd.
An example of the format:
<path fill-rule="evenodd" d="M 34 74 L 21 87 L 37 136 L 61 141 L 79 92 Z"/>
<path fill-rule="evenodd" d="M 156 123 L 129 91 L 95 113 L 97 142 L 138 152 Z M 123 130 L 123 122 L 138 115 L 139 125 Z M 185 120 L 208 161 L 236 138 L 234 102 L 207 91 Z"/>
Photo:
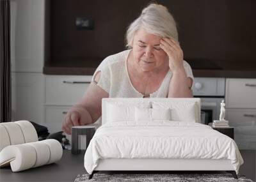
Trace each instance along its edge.
<path fill-rule="evenodd" d="M 106 123 L 108 104 L 137 105 L 140 103 L 168 103 L 168 105 L 195 103 L 196 123 L 200 123 L 200 98 L 103 98 L 102 99 L 102 125 Z"/>

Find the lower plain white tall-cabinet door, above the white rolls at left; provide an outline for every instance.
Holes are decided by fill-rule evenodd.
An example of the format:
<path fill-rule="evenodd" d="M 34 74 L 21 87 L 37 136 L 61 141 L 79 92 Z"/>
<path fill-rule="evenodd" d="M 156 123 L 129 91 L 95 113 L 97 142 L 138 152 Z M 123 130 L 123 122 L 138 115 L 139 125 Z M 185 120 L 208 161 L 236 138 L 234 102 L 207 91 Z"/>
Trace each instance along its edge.
<path fill-rule="evenodd" d="M 12 120 L 44 123 L 44 75 L 12 73 Z"/>

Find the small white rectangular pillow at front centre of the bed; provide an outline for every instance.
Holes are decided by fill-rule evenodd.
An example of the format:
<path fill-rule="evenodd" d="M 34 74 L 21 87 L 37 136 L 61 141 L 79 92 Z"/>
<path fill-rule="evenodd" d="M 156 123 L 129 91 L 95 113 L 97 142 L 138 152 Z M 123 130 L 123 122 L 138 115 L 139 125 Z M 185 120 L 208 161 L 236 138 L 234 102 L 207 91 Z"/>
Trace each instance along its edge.
<path fill-rule="evenodd" d="M 170 108 L 168 109 L 147 109 L 135 108 L 136 121 L 170 120 Z"/>

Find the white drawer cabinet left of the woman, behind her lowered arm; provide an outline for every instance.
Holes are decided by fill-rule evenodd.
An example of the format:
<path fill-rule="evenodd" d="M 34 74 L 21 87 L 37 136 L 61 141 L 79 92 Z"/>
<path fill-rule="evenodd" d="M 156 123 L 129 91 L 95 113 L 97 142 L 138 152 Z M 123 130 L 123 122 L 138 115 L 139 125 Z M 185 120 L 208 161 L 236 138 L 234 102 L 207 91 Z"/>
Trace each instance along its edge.
<path fill-rule="evenodd" d="M 45 75 L 45 125 L 60 132 L 68 109 L 83 97 L 91 75 Z"/>

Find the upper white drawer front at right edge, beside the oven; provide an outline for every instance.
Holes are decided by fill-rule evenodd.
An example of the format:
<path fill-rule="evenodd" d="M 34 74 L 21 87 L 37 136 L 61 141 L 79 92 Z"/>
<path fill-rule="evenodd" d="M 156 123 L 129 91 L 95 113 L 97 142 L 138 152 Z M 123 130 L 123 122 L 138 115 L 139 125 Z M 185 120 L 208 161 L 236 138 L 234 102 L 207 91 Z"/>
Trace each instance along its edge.
<path fill-rule="evenodd" d="M 256 79 L 226 79 L 226 107 L 256 109 Z"/>

